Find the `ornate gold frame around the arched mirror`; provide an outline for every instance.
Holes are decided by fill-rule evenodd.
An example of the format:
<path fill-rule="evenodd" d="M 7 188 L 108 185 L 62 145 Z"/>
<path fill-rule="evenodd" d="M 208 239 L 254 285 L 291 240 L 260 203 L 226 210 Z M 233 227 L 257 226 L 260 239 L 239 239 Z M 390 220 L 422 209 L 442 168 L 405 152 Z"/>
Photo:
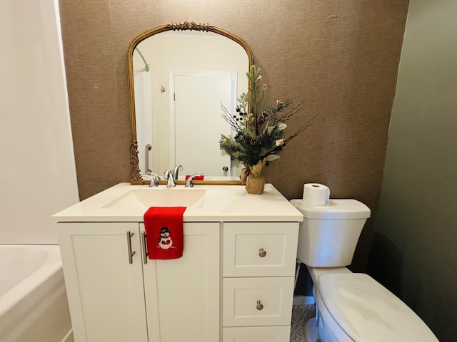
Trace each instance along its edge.
<path fill-rule="evenodd" d="M 141 33 L 139 36 L 136 36 L 129 46 L 129 52 L 127 56 L 127 62 L 129 67 L 129 95 L 130 95 L 130 115 L 131 115 L 131 145 L 130 145 L 130 183 L 131 185 L 144 185 L 149 184 L 149 180 L 143 180 L 140 174 L 139 169 L 139 157 L 138 157 L 138 141 L 136 138 L 136 115 L 135 115 L 135 94 L 134 94 L 134 66 L 133 66 L 133 56 L 134 49 L 136 46 L 143 41 L 145 38 L 153 36 L 154 34 L 161 33 L 164 31 L 184 31 L 184 30 L 194 30 L 194 31 L 206 31 L 218 33 L 222 36 L 226 36 L 236 43 L 240 44 L 248 56 L 249 67 L 253 63 L 253 55 L 251 48 L 248 44 L 243 41 L 243 39 L 235 36 L 229 31 L 225 31 L 222 28 L 216 26 L 210 26 L 209 24 L 199 24 L 194 21 L 185 21 L 184 23 L 171 23 L 156 28 L 152 28 L 149 31 Z M 249 68 L 248 68 L 249 70 Z M 246 70 L 246 73 L 248 72 Z M 166 181 L 159 181 L 166 184 Z M 176 184 L 180 184 L 182 181 L 178 181 Z M 184 183 L 184 182 L 183 182 Z M 209 181 L 195 181 L 195 184 L 201 185 L 241 185 L 240 181 L 219 181 L 219 180 L 209 180 Z"/>

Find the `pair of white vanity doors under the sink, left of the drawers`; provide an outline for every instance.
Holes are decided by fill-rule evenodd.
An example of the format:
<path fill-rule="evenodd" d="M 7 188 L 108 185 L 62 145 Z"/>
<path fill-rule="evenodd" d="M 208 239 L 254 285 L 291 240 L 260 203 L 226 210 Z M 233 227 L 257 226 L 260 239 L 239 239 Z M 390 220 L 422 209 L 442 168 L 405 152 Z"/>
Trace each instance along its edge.
<path fill-rule="evenodd" d="M 219 340 L 219 222 L 185 223 L 173 260 L 144 259 L 139 222 L 58 227 L 76 342 Z"/>

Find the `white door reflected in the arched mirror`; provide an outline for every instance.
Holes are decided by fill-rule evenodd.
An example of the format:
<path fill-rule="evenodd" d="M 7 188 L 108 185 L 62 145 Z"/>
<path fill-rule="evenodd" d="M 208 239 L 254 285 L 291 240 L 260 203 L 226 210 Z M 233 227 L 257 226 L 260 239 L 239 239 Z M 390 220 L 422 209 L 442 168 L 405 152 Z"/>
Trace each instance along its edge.
<path fill-rule="evenodd" d="M 236 73 L 171 72 L 171 76 L 174 90 L 170 105 L 174 108 L 170 125 L 172 164 L 183 165 L 186 175 L 204 172 L 213 176 L 235 176 L 231 158 L 218 142 L 221 133 L 231 135 L 230 125 L 221 115 L 221 104 L 235 112 Z"/>

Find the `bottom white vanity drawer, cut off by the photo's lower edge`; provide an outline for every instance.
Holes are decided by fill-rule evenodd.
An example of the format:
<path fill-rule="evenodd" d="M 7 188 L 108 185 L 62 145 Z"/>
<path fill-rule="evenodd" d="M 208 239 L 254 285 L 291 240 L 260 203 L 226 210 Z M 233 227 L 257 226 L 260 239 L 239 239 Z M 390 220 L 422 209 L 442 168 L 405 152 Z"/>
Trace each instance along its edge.
<path fill-rule="evenodd" d="M 224 328 L 223 342 L 284 342 L 291 338 L 291 326 L 243 326 Z"/>

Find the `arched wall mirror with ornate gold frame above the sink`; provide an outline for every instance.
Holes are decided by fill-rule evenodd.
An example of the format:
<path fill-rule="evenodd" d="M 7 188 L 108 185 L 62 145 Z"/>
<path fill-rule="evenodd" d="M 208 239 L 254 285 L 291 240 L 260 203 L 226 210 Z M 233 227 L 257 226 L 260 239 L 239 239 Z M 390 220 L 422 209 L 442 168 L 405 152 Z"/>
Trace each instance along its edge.
<path fill-rule="evenodd" d="M 240 165 L 219 147 L 221 133 L 231 134 L 221 104 L 235 113 L 252 63 L 245 41 L 209 24 L 167 24 L 134 38 L 128 54 L 131 184 L 175 165 L 183 166 L 183 180 L 196 172 L 206 182 L 236 179 Z"/>

